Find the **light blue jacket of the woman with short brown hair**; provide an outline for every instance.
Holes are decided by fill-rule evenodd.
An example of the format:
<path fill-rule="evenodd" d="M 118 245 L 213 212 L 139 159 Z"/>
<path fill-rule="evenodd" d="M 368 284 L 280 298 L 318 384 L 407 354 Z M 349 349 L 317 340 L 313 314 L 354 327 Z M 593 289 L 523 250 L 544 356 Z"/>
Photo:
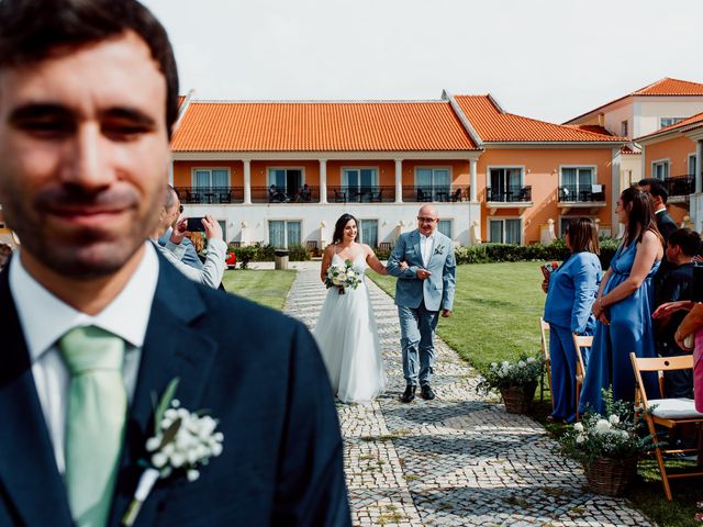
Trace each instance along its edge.
<path fill-rule="evenodd" d="M 551 273 L 545 302 L 545 321 L 584 333 L 594 324 L 591 307 L 595 302 L 603 271 L 593 253 L 571 255 Z"/>

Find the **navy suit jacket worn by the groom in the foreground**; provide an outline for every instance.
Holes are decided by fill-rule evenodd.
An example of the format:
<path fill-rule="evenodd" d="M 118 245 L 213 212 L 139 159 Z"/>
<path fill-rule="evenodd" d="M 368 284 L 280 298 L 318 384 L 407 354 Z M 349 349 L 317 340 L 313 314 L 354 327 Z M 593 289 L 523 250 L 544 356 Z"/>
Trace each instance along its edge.
<path fill-rule="evenodd" d="M 299 322 L 197 284 L 160 258 L 109 525 L 120 524 L 153 435 L 152 395 L 219 419 L 224 450 L 200 479 L 160 480 L 136 526 L 348 526 L 327 375 Z M 70 526 L 29 352 L 0 273 L 0 525 Z"/>

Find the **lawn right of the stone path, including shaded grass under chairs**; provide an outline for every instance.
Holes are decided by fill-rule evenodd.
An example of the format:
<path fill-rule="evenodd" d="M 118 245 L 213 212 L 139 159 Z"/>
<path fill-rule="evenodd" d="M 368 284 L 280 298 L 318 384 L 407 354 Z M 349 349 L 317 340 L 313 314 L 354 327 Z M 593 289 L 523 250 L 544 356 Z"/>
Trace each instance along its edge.
<path fill-rule="evenodd" d="M 376 283 L 390 295 L 395 279 L 370 273 Z M 438 335 L 471 366 L 479 370 L 492 361 L 514 359 L 521 352 L 539 352 L 538 319 L 544 310 L 545 294 L 540 289 L 538 262 L 477 264 L 457 268 L 457 290 L 454 312 L 439 318 Z M 551 403 L 533 407 L 533 417 L 554 436 L 563 433 L 562 425 L 546 423 Z M 639 476 L 626 497 L 660 527 L 694 527 L 695 501 L 703 498 L 700 479 L 670 480 L 673 502 L 663 497 L 656 462 L 639 463 Z"/>

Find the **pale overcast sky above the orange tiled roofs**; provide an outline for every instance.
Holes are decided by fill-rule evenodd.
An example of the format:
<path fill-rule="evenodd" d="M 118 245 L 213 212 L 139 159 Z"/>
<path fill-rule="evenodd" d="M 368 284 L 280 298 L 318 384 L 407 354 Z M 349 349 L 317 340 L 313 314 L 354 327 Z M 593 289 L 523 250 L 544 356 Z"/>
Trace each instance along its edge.
<path fill-rule="evenodd" d="M 200 100 L 491 93 L 562 123 L 663 77 L 703 82 L 701 0 L 143 0 Z"/>

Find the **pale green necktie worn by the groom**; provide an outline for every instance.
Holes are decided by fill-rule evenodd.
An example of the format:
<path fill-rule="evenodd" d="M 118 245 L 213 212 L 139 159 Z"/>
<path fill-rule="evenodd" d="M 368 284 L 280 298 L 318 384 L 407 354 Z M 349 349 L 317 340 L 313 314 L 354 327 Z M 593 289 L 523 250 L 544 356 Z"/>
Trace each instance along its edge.
<path fill-rule="evenodd" d="M 122 449 L 127 397 L 124 340 L 94 326 L 58 341 L 70 371 L 66 416 L 66 486 L 79 527 L 104 527 Z"/>

